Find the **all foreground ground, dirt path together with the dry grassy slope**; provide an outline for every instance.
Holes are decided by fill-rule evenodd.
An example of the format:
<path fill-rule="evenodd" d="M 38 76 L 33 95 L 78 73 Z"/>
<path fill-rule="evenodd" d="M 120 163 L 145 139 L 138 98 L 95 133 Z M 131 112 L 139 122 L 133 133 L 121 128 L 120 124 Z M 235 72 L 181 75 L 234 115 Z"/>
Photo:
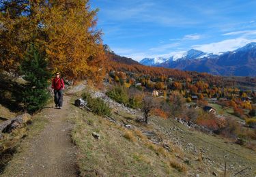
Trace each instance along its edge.
<path fill-rule="evenodd" d="M 111 107 L 111 119 L 73 105 L 88 92 Z M 147 125 L 139 123 L 143 112 L 117 103 L 86 82 L 68 89 L 64 100 L 63 110 L 50 103 L 33 116 L 27 138 L 3 176 L 222 176 L 225 161 L 229 176 L 244 169 L 237 176 L 255 175 L 255 151 L 174 118 L 152 115 Z"/>

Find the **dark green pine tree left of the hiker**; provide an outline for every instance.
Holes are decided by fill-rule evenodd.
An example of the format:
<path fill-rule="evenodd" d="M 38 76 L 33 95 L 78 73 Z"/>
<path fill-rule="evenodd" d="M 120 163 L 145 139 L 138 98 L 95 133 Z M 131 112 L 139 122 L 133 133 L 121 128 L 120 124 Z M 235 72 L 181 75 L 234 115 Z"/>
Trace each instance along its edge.
<path fill-rule="evenodd" d="M 27 81 L 22 94 L 23 103 L 29 113 L 42 109 L 49 98 L 46 88 L 51 73 L 47 70 L 47 64 L 45 54 L 32 44 L 20 65 L 23 79 Z"/>

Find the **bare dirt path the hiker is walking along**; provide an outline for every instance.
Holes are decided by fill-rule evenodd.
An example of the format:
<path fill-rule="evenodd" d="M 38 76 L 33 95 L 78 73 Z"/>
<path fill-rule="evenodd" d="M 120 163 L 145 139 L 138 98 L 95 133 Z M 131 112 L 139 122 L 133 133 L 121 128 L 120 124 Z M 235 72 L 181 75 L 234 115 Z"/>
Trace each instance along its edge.
<path fill-rule="evenodd" d="M 76 146 L 70 138 L 72 124 L 67 120 L 69 109 L 70 97 L 64 96 L 61 110 L 43 110 L 49 123 L 31 140 L 19 176 L 77 176 Z"/>

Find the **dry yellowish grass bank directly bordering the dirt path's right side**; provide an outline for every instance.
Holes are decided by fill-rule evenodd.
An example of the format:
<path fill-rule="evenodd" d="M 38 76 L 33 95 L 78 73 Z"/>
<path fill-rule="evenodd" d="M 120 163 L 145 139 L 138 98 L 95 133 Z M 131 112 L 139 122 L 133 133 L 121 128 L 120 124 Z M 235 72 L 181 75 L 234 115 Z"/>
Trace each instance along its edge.
<path fill-rule="evenodd" d="M 72 138 L 80 149 L 78 164 L 82 176 L 184 176 L 134 132 L 129 131 L 132 138 L 128 140 L 124 138 L 124 128 L 91 112 L 74 110 L 71 118 L 76 127 Z M 100 140 L 93 138 L 93 132 L 100 134 Z"/>

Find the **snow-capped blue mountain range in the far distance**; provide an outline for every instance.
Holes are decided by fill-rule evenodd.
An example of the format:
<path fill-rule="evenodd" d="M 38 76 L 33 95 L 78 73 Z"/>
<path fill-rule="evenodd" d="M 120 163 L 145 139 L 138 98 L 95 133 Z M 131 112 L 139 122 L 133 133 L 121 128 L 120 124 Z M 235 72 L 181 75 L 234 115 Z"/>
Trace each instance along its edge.
<path fill-rule="evenodd" d="M 152 59 L 143 59 L 141 64 L 150 65 L 154 63 Z M 199 50 L 189 50 L 180 58 L 170 57 L 162 63 L 154 66 L 182 69 L 186 71 L 207 72 L 209 74 L 221 76 L 256 76 L 256 43 L 250 43 L 232 52 L 222 54 L 208 54 Z"/>

